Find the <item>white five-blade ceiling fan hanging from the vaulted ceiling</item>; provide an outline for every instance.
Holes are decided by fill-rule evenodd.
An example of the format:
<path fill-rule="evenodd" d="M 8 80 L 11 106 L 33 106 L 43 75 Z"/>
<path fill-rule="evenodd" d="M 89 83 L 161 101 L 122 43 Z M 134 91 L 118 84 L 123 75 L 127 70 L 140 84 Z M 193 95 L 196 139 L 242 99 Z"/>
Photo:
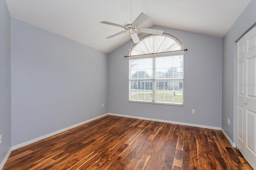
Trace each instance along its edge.
<path fill-rule="evenodd" d="M 129 32 L 132 37 L 132 41 L 134 42 L 134 44 L 136 44 L 140 42 L 140 39 L 136 32 L 150 33 L 150 34 L 157 34 L 157 35 L 162 35 L 162 33 L 164 32 L 164 30 L 162 29 L 141 28 L 140 25 L 144 23 L 146 20 L 148 20 L 149 18 L 150 16 L 148 16 L 147 14 L 141 13 L 140 16 L 136 18 L 136 20 L 134 20 L 133 22 L 132 21 L 125 22 L 124 25 L 119 25 L 116 23 L 108 22 L 108 21 L 101 21 L 100 23 L 114 25 L 114 26 L 122 27 L 125 29 L 124 31 L 115 33 L 114 35 L 110 35 L 109 37 L 106 37 L 106 38 L 113 38 L 122 33 Z"/>

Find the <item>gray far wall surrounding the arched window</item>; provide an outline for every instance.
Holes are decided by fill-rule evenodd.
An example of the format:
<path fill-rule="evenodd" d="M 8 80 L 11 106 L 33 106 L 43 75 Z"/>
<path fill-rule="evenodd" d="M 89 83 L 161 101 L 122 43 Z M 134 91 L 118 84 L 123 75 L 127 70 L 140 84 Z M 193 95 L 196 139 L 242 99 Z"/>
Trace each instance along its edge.
<path fill-rule="evenodd" d="M 222 38 L 166 27 L 188 49 L 184 55 L 184 106 L 128 102 L 128 43 L 109 54 L 108 112 L 221 127 Z M 140 35 L 142 37 L 142 35 Z M 132 42 L 131 42 L 132 44 Z M 192 114 L 196 109 L 196 114 Z"/>

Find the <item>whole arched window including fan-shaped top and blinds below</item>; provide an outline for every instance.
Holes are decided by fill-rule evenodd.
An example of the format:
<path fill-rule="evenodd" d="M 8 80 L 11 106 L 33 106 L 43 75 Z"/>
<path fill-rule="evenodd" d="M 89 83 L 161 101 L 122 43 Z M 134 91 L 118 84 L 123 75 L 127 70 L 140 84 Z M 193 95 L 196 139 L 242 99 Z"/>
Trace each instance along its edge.
<path fill-rule="evenodd" d="M 129 57 L 129 101 L 183 105 L 182 50 L 169 34 L 147 35 L 135 44 Z"/>

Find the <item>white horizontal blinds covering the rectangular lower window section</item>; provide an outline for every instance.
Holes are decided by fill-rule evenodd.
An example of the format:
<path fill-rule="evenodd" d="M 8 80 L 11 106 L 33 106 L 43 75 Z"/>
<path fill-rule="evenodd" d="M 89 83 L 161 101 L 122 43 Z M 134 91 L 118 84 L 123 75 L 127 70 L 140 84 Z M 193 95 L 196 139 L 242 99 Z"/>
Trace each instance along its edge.
<path fill-rule="evenodd" d="M 129 59 L 129 100 L 183 105 L 183 54 Z"/>

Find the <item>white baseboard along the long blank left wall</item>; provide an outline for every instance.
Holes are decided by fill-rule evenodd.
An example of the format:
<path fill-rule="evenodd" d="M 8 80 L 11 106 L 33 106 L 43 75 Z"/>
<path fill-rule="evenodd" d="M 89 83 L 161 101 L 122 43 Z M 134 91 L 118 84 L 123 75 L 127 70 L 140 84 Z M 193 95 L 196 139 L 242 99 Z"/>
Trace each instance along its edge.
<path fill-rule="evenodd" d="M 76 125 L 72 125 L 72 126 L 70 126 L 70 127 L 66 127 L 66 128 L 64 128 L 64 129 L 60 129 L 60 130 L 58 130 L 58 131 L 49 133 L 49 134 L 47 134 L 47 135 L 38 137 L 38 138 L 36 138 L 36 139 L 32 139 L 32 140 L 30 140 L 30 141 L 26 141 L 26 142 L 24 142 L 24 143 L 15 145 L 15 146 L 12 147 L 12 150 L 18 149 L 18 148 L 20 148 L 20 147 L 24 147 L 24 146 L 29 145 L 29 144 L 31 144 L 31 143 L 34 143 L 34 142 L 36 142 L 36 141 L 40 141 L 40 140 L 45 139 L 45 138 L 47 138 L 47 137 L 50 137 L 50 136 L 52 136 L 52 135 L 56 135 L 56 134 L 58 134 L 58 133 L 64 132 L 64 131 L 66 131 L 66 130 L 72 129 L 73 127 L 77 127 L 77 126 L 79 126 L 79 125 L 82 125 L 82 124 L 84 124 L 84 123 L 88 123 L 89 121 L 93 121 L 93 120 L 95 120 L 95 119 L 98 119 L 98 118 L 103 117 L 103 116 L 106 116 L 106 115 L 108 115 L 108 113 L 106 113 L 106 114 L 104 114 L 104 115 L 100 115 L 100 116 L 94 117 L 94 118 L 89 119 L 89 120 L 86 120 L 86 121 L 83 121 L 83 122 L 78 123 L 78 124 L 76 124 Z"/>

